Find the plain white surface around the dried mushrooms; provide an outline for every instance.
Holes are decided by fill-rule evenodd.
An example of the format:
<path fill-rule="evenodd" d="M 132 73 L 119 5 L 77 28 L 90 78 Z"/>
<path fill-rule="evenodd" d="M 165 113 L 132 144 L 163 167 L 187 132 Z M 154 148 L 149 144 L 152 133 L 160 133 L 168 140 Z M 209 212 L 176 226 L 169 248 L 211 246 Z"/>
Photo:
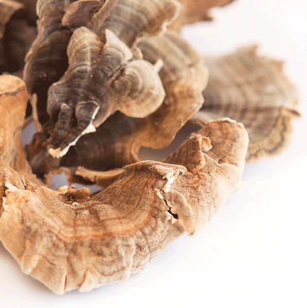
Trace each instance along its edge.
<path fill-rule="evenodd" d="M 22 274 L 0 244 L 0 307 L 306 307 L 307 5 L 299 0 L 237 0 L 215 21 L 187 27 L 206 55 L 259 44 L 286 61 L 300 93 L 291 146 L 246 166 L 234 192 L 196 238 L 172 243 L 127 282 L 57 296 Z"/>

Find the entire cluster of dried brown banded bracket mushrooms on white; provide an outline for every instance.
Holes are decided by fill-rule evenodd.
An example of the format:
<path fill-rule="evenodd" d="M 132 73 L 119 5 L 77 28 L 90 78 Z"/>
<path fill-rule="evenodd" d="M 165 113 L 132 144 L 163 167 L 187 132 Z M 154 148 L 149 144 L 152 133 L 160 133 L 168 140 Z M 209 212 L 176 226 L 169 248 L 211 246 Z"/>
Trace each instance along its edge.
<path fill-rule="evenodd" d="M 126 280 L 200 232 L 245 161 L 285 147 L 298 113 L 281 63 L 254 46 L 202 58 L 176 31 L 229 2 L 38 0 L 36 27 L 33 1 L 0 0 L 0 240 L 24 273 L 58 294 Z M 173 154 L 139 159 L 187 122 Z M 62 171 L 101 190 L 52 190 Z"/>

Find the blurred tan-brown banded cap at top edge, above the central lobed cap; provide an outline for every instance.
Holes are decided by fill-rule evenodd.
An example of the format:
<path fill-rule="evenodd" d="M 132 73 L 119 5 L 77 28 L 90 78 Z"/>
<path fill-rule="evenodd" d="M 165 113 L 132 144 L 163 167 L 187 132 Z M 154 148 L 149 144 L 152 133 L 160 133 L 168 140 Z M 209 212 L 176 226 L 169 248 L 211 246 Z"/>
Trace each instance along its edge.
<path fill-rule="evenodd" d="M 132 47 L 143 35 L 164 32 L 180 9 L 177 0 L 81 0 L 67 8 L 62 24 L 71 30 L 85 26 L 99 37 L 109 29 Z"/>

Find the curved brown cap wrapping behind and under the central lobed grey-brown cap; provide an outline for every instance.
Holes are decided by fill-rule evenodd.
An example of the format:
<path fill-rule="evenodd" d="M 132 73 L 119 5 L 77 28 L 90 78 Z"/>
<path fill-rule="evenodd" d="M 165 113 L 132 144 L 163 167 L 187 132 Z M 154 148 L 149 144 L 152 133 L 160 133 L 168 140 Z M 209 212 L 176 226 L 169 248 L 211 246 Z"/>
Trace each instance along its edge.
<path fill-rule="evenodd" d="M 141 146 L 165 148 L 177 131 L 199 110 L 208 71 L 201 57 L 179 35 L 168 30 L 157 37 L 143 37 L 137 48 L 143 59 L 155 64 L 163 59 L 159 77 L 166 98 L 158 110 L 145 118 L 128 117 L 116 112 L 105 120 L 95 133 L 80 137 L 61 161 L 50 156 L 38 159 L 46 134 L 38 133 L 26 152 L 35 173 L 43 177 L 59 166 L 107 170 L 138 161 Z M 92 151 L 87 151 L 91 147 Z"/>

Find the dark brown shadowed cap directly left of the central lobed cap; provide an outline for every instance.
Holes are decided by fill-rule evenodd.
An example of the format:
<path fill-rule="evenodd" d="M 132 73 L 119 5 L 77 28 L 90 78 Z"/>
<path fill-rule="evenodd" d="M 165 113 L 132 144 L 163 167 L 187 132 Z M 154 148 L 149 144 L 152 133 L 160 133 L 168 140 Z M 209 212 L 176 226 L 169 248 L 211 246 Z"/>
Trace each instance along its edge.
<path fill-rule="evenodd" d="M 29 96 L 38 96 L 38 115 L 42 124 L 49 120 L 46 112 L 47 91 L 65 73 L 68 60 L 66 48 L 71 31 L 62 26 L 69 0 L 38 0 L 38 36 L 25 59 L 23 79 Z"/>

